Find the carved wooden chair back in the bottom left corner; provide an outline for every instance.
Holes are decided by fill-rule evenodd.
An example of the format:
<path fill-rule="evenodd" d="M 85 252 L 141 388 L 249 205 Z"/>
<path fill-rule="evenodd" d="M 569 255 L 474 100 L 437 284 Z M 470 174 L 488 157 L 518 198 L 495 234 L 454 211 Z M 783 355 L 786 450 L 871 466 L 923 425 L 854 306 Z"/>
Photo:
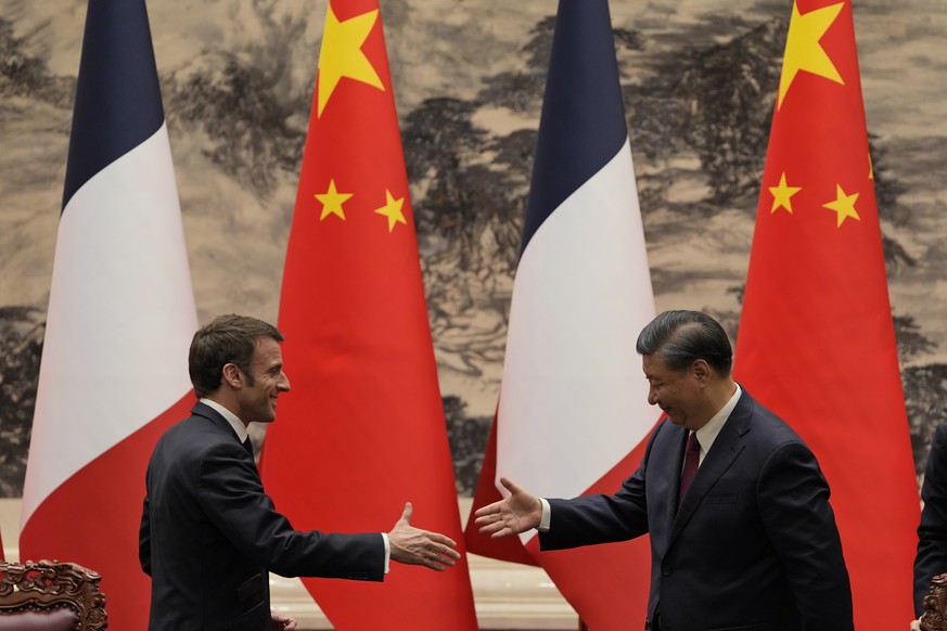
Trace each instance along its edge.
<path fill-rule="evenodd" d="M 0 562 L 0 629 L 101 631 L 108 624 L 100 580 L 74 563 Z"/>

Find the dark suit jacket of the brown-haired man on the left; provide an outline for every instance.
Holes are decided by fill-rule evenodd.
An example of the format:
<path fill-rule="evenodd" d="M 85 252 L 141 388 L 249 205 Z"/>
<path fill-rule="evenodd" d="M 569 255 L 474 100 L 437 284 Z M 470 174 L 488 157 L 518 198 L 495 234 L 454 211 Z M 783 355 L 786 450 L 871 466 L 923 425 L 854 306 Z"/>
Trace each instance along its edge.
<path fill-rule="evenodd" d="M 294 530 L 233 428 L 204 403 L 158 440 L 145 484 L 139 556 L 152 630 L 269 629 L 268 571 L 384 578 L 380 533 Z"/>

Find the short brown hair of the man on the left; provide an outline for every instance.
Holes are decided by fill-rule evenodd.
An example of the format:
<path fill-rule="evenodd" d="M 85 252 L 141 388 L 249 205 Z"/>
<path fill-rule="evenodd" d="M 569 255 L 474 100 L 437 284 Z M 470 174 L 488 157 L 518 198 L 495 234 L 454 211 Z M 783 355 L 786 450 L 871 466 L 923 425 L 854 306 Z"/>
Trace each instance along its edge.
<path fill-rule="evenodd" d="M 220 387 L 223 366 L 236 364 L 253 385 L 253 352 L 261 337 L 283 340 L 283 334 L 263 320 L 247 316 L 219 316 L 204 325 L 191 340 L 188 372 L 197 397 L 206 397 Z"/>

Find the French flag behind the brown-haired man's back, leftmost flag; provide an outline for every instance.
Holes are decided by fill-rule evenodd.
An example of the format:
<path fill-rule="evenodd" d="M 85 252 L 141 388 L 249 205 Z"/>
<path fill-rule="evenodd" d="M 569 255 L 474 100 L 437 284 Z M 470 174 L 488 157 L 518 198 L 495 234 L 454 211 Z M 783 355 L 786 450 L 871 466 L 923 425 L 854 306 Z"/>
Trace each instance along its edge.
<path fill-rule="evenodd" d="M 23 492 L 20 557 L 102 576 L 148 626 L 144 471 L 192 402 L 197 319 L 143 0 L 90 0 Z"/>

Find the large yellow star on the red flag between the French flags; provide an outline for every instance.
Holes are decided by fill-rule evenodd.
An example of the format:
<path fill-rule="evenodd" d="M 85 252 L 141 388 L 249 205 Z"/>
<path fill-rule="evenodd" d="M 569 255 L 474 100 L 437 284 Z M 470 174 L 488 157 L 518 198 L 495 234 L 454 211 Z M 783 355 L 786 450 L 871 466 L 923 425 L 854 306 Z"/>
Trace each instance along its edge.
<path fill-rule="evenodd" d="M 361 81 L 384 91 L 385 87 L 371 62 L 361 52 L 364 40 L 379 18 L 379 10 L 356 15 L 338 22 L 332 11 L 332 3 L 325 14 L 325 33 L 319 52 L 319 107 L 316 116 L 322 116 L 325 104 L 335 91 L 342 77 Z"/>

